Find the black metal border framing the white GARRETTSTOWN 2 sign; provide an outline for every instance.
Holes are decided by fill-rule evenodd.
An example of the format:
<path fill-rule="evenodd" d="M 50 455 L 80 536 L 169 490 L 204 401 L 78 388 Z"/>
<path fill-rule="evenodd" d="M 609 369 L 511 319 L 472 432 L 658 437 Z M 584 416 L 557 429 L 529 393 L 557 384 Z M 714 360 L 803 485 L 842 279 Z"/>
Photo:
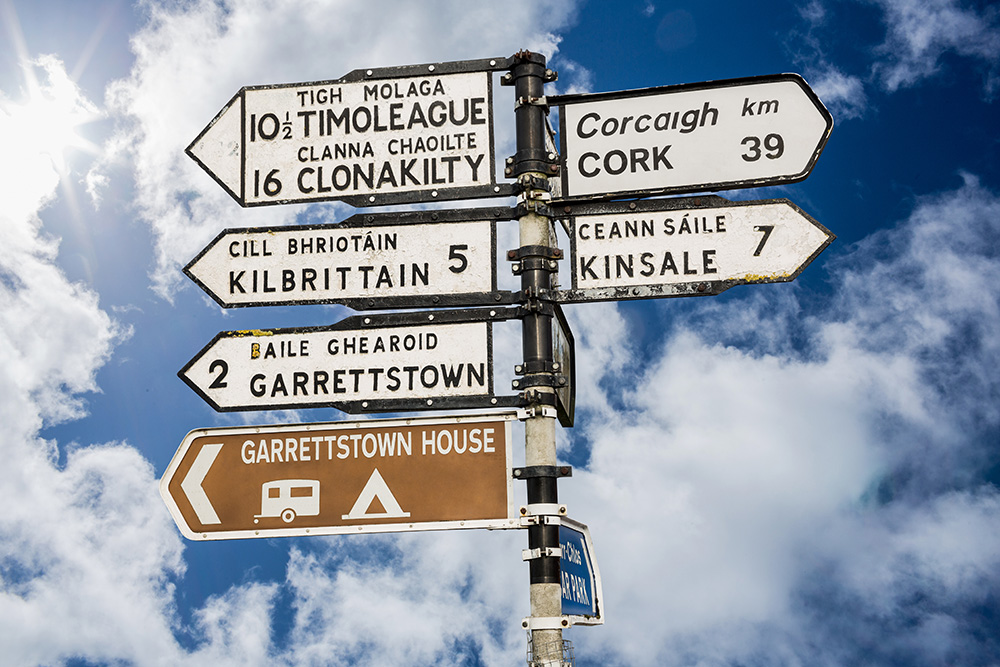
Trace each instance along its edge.
<path fill-rule="evenodd" d="M 493 373 L 493 322 L 503 322 L 520 317 L 519 308 L 472 308 L 462 310 L 418 311 L 409 313 L 385 313 L 379 315 L 352 315 L 339 322 L 327 326 L 288 327 L 280 329 L 259 330 L 262 336 L 274 334 L 316 333 L 322 331 L 344 331 L 349 329 L 390 329 L 393 327 L 435 326 L 438 324 L 464 324 L 469 322 L 486 323 L 486 361 L 487 361 L 487 393 L 469 396 L 447 396 L 434 399 L 403 398 L 403 399 L 370 399 L 367 401 L 323 401 L 311 403 L 282 403 L 277 405 L 238 405 L 222 407 L 216 403 L 201 387 L 188 376 L 187 371 L 204 357 L 222 338 L 245 338 L 253 336 L 246 331 L 220 331 L 203 347 L 184 367 L 177 376 L 208 403 L 216 412 L 244 412 L 257 410 L 297 410 L 303 408 L 336 408 L 348 414 L 363 414 L 371 412 L 404 412 L 411 410 L 442 410 L 468 408 L 513 408 L 523 407 L 527 402 L 520 396 L 494 395 Z M 429 404 L 428 404 L 429 402 Z"/>

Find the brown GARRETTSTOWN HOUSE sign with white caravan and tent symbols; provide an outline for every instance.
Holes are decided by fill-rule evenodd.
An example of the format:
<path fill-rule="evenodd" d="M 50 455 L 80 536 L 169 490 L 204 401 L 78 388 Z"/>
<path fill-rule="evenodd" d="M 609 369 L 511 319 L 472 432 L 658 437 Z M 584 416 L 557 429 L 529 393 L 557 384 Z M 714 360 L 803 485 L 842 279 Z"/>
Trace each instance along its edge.
<path fill-rule="evenodd" d="M 192 431 L 160 480 L 185 537 L 517 528 L 517 413 Z"/>

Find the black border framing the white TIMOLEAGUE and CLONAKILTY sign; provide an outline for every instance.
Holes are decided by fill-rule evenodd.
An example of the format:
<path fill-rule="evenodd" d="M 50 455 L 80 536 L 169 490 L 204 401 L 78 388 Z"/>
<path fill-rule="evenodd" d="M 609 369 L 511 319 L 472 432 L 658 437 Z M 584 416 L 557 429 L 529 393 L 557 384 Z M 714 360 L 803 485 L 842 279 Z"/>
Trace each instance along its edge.
<path fill-rule="evenodd" d="M 425 63 L 420 65 L 403 65 L 398 67 L 373 67 L 368 69 L 356 69 L 348 72 L 339 79 L 329 79 L 326 81 L 306 81 L 299 83 L 282 83 L 282 84 L 270 84 L 270 85 L 260 85 L 260 86 L 244 86 L 236 94 L 236 97 L 240 97 L 242 101 L 241 113 L 241 128 L 242 136 L 240 137 L 240 179 L 241 179 L 241 196 L 237 197 L 229 188 L 225 188 L 226 192 L 236 200 L 236 202 L 243 206 L 244 208 L 252 208 L 256 206 L 275 206 L 279 204 L 311 204 L 316 202 L 327 202 L 327 201 L 339 201 L 349 204 L 356 208 L 367 208 L 370 206 L 389 206 L 392 204 L 418 204 L 418 203 L 429 203 L 436 201 L 452 201 L 456 199 L 482 199 L 486 197 L 511 197 L 516 194 L 513 183 L 498 183 L 496 180 L 496 141 L 494 137 L 495 126 L 493 120 L 493 72 L 504 72 L 510 70 L 513 66 L 513 60 L 511 58 L 480 58 L 477 60 L 458 60 L 452 62 L 438 62 L 438 63 Z M 448 75 L 448 74 L 468 74 L 482 72 L 486 75 L 486 91 L 489 109 L 489 183 L 484 185 L 474 185 L 474 186 L 462 186 L 453 188 L 427 188 L 425 190 L 415 190 L 407 192 L 390 192 L 385 194 L 366 194 L 366 195 L 339 195 L 339 196 L 329 196 L 329 197 L 305 197 L 299 199 L 274 199 L 268 201 L 256 201 L 247 202 L 246 201 L 246 146 L 244 145 L 243 138 L 246 136 L 246 128 L 243 124 L 246 122 L 246 92 L 255 90 L 275 90 L 278 88 L 301 88 L 303 86 L 325 86 L 343 83 L 360 83 L 363 81 L 381 81 L 385 79 L 400 79 L 407 77 L 416 76 L 437 76 L 437 75 Z M 235 97 L 234 97 L 235 99 Z M 230 101 L 232 104 L 232 101 Z M 228 105 L 227 105 L 228 106 Z M 225 108 L 223 108 L 225 111 Z M 222 115 L 222 112 L 216 116 L 216 119 L 209 123 L 201 134 L 198 135 L 201 138 L 208 129 L 215 124 L 216 120 Z M 197 139 L 195 140 L 197 141 Z M 193 144 L 192 144 L 193 145 Z M 190 155 L 190 153 L 189 153 Z M 207 167 L 198 161 L 202 169 L 208 171 Z M 212 172 L 209 171 L 209 174 Z M 214 175 L 213 175 L 214 178 Z M 215 179 L 217 182 L 218 178 Z M 432 193 L 436 192 L 437 195 L 433 196 Z"/>

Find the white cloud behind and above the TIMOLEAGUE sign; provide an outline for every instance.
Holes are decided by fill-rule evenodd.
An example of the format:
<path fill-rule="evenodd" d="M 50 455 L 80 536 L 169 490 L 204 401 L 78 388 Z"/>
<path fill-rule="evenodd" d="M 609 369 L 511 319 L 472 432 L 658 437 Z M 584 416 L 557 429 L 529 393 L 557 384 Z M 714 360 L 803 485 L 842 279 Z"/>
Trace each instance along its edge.
<path fill-rule="evenodd" d="M 108 105 L 122 123 L 114 159 L 132 160 L 136 204 L 156 238 L 157 291 L 169 297 L 181 281 L 179 268 L 219 230 L 284 224 L 302 210 L 241 209 L 184 154 L 240 87 L 327 80 L 361 67 L 509 56 L 524 48 L 551 56 L 558 47 L 554 31 L 574 7 L 458 0 L 150 5 L 149 25 L 132 39 L 135 67 L 110 88 Z M 323 207 L 341 218 L 349 210 Z"/>

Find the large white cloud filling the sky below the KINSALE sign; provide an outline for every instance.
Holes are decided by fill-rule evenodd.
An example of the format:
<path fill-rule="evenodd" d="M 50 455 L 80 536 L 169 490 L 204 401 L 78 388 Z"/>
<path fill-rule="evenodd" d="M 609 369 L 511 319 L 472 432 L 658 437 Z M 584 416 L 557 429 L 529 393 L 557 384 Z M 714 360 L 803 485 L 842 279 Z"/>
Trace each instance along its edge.
<path fill-rule="evenodd" d="M 1000 431 L 998 221 L 1000 198 L 966 176 L 831 262 L 819 314 L 793 286 L 740 288 L 765 296 L 705 303 L 647 372 L 606 374 L 627 400 L 584 419 L 573 439 L 590 441 L 591 465 L 561 489 L 594 533 L 607 596 L 608 633 L 581 630 L 578 655 L 988 654 L 975 609 L 1000 592 L 985 537 L 1000 495 L 983 485 Z M 880 648 L 862 655 L 873 632 Z"/>

